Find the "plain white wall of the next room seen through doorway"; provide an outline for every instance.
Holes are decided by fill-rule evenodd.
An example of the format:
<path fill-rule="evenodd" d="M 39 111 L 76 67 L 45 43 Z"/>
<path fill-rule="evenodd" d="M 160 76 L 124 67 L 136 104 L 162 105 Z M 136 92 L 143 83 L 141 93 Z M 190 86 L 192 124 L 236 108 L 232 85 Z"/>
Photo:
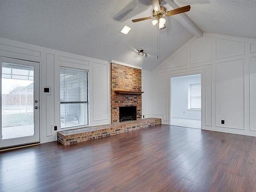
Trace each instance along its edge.
<path fill-rule="evenodd" d="M 201 110 L 188 109 L 190 84 L 200 84 L 201 76 L 181 76 L 171 79 L 171 118 L 201 119 Z"/>

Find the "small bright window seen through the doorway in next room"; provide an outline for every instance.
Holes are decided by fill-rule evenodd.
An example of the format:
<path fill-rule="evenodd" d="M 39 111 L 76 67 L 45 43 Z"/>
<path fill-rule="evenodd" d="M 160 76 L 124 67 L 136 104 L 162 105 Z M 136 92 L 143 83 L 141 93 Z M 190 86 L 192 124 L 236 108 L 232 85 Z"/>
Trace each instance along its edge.
<path fill-rule="evenodd" d="M 201 84 L 190 84 L 190 106 L 191 109 L 201 109 Z"/>

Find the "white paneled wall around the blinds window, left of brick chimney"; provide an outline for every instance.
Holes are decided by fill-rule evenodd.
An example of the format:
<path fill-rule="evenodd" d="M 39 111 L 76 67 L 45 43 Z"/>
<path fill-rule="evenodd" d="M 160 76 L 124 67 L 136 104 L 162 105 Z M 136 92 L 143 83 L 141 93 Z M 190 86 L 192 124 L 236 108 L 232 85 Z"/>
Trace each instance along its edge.
<path fill-rule="evenodd" d="M 89 125 L 111 123 L 110 116 L 110 63 L 86 56 L 0 38 L 0 56 L 40 63 L 40 142 L 56 140 L 60 131 L 59 68 L 69 66 L 89 70 Z M 43 92 L 45 86 L 52 94 Z"/>

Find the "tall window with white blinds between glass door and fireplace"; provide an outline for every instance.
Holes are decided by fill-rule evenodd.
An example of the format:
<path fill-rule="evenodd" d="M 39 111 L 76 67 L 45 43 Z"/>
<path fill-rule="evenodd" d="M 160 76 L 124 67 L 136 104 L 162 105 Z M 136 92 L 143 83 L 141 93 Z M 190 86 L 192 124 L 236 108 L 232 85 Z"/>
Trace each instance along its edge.
<path fill-rule="evenodd" d="M 88 71 L 60 67 L 60 127 L 88 125 Z"/>

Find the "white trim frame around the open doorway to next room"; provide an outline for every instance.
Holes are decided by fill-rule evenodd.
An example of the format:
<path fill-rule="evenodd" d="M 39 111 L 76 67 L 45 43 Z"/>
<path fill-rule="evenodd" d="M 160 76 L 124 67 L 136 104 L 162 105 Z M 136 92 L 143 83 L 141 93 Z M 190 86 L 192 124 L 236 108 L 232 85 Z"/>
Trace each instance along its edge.
<path fill-rule="evenodd" d="M 195 71 L 195 72 L 185 72 L 169 75 L 169 125 L 172 121 L 172 83 L 171 80 L 173 77 L 184 77 L 192 75 L 201 75 L 201 128 L 203 129 L 204 125 L 204 114 L 205 114 L 205 89 L 204 89 L 204 71 Z"/>

